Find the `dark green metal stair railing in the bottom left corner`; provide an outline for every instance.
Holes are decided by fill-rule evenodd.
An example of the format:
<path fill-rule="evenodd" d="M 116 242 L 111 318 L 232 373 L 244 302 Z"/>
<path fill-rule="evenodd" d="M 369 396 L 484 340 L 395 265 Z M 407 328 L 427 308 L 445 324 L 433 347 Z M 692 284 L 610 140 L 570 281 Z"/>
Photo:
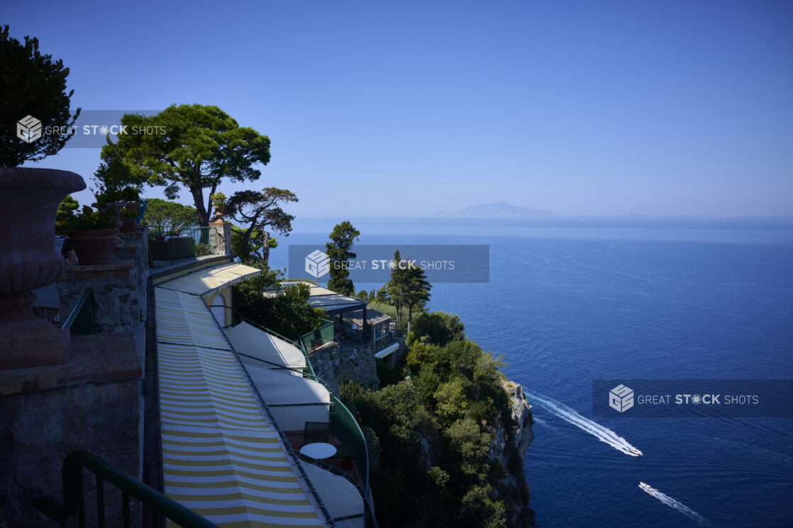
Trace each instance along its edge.
<path fill-rule="evenodd" d="M 83 469 L 94 473 L 96 476 L 96 503 L 97 522 L 90 526 L 104 528 L 105 520 L 105 482 L 113 484 L 121 491 L 122 526 L 132 526 L 129 499 L 133 497 L 140 501 L 144 507 L 151 509 L 151 518 L 155 521 L 152 526 L 161 526 L 161 518 L 169 518 L 183 528 L 218 528 L 218 526 L 201 517 L 182 504 L 169 499 L 158 492 L 124 473 L 120 469 L 109 465 L 101 458 L 83 450 L 72 451 L 63 460 L 63 511 L 60 515 L 60 526 L 65 528 L 69 518 L 77 516 L 78 526 L 86 526 L 86 503 L 83 491 Z M 115 525 L 114 525 L 115 526 Z"/>

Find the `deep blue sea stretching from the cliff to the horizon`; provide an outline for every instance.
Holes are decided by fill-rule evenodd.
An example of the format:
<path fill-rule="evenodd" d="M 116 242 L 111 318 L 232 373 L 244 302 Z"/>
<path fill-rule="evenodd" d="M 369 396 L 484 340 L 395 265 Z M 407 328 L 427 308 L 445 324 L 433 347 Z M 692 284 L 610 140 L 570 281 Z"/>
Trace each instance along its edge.
<path fill-rule="evenodd" d="M 271 264 L 339 220 L 298 222 Z M 360 243 L 490 245 L 490 281 L 437 284 L 431 309 L 461 316 L 537 396 L 537 526 L 793 526 L 793 419 L 594 420 L 639 458 L 538 403 L 592 419 L 594 378 L 793 378 L 793 220 L 353 224 Z"/>

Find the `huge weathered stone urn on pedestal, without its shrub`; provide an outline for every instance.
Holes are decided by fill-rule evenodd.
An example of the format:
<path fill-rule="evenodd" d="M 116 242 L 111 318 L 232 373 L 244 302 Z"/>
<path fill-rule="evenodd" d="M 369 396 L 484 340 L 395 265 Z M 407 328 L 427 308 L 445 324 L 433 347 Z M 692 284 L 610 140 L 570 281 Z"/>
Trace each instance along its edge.
<path fill-rule="evenodd" d="M 69 331 L 33 314 L 36 294 L 66 269 L 55 251 L 55 215 L 69 193 L 86 188 L 67 170 L 0 167 L 0 369 L 67 362 Z"/>

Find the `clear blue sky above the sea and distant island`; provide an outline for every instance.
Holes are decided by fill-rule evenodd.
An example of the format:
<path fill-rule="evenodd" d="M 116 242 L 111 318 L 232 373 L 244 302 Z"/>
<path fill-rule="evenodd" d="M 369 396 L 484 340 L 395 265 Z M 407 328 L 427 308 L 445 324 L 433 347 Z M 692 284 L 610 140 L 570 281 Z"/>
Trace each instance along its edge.
<path fill-rule="evenodd" d="M 3 3 L 75 106 L 217 105 L 270 136 L 244 186 L 297 215 L 793 215 L 793 2 Z M 98 155 L 40 165 L 88 181 Z"/>

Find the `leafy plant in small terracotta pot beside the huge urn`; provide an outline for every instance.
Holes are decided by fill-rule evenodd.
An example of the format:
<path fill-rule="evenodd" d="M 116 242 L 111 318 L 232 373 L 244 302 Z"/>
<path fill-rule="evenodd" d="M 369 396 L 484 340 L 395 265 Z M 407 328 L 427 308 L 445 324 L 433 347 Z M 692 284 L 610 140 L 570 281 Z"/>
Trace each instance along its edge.
<path fill-rule="evenodd" d="M 82 211 L 66 220 L 66 231 L 80 264 L 107 264 L 118 239 L 118 216 L 112 207 Z"/>

